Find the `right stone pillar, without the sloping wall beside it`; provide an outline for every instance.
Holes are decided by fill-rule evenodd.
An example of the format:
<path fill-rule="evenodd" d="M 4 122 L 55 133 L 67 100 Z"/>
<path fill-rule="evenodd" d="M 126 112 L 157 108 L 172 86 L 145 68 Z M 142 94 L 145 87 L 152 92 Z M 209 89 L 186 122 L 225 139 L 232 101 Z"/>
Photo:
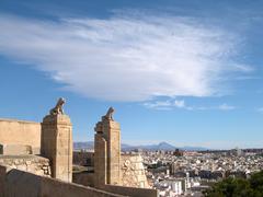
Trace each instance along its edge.
<path fill-rule="evenodd" d="M 95 131 L 94 172 L 95 177 L 99 178 L 96 183 L 99 185 L 95 186 L 100 187 L 103 183 L 118 185 L 121 182 L 119 124 L 114 121 L 112 116 L 106 115 L 96 124 Z"/>

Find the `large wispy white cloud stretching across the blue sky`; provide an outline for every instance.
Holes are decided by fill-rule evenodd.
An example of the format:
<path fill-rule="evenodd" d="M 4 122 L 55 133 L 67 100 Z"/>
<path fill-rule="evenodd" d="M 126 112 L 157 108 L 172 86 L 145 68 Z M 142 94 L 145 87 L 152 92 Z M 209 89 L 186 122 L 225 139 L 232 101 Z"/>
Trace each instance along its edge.
<path fill-rule="evenodd" d="M 211 96 L 227 89 L 218 85 L 226 73 L 251 70 L 232 60 L 239 49 L 235 33 L 187 18 L 117 14 L 50 22 L 0 15 L 0 54 L 100 100 Z"/>

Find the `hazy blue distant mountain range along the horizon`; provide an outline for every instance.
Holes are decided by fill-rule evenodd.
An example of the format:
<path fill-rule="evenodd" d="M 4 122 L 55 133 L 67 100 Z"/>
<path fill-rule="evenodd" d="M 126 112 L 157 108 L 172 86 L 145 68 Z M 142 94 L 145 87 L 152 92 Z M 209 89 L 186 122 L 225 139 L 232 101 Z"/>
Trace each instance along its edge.
<path fill-rule="evenodd" d="M 73 149 L 75 150 L 80 150 L 80 149 L 93 149 L 94 148 L 94 142 L 93 141 L 85 141 L 85 142 L 73 142 Z M 204 147 L 174 147 L 168 142 L 160 142 L 158 144 L 146 144 L 146 146 L 130 146 L 126 143 L 122 143 L 122 150 L 123 151 L 130 151 L 135 149 L 141 149 L 141 150 L 150 150 L 150 151 L 156 151 L 156 150 L 167 150 L 167 151 L 172 151 L 175 149 L 180 150 L 187 150 L 187 151 L 204 151 L 208 150 L 207 148 Z"/>

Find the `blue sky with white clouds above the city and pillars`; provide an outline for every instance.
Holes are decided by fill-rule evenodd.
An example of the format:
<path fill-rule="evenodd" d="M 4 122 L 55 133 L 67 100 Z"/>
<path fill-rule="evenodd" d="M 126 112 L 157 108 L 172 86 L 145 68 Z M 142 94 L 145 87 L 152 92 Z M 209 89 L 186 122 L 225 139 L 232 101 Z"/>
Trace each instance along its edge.
<path fill-rule="evenodd" d="M 263 1 L 0 1 L 0 117 L 59 96 L 75 141 L 108 106 L 132 144 L 263 144 Z"/>

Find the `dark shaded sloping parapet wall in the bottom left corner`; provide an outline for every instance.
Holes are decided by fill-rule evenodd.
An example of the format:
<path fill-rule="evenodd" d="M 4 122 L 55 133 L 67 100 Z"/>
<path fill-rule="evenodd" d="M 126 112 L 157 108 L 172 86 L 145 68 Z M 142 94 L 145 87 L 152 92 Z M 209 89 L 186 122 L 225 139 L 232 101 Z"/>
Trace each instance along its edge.
<path fill-rule="evenodd" d="M 0 197 L 123 197 L 113 193 L 61 182 L 0 166 Z"/>

